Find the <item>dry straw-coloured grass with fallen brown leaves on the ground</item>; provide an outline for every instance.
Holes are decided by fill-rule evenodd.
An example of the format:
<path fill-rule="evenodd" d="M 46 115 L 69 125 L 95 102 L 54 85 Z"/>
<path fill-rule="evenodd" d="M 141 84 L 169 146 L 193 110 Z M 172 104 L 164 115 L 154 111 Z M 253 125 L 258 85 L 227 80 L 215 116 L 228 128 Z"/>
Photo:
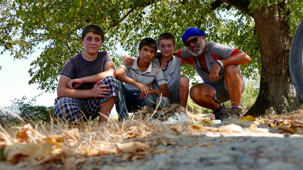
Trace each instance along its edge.
<path fill-rule="evenodd" d="M 269 115 L 258 118 L 260 121 L 302 121 L 303 111 L 298 110 L 285 115 Z M 143 159 L 145 155 L 166 152 L 157 149 L 158 145 L 178 145 L 181 141 L 195 141 L 195 136 L 205 132 L 215 132 L 207 122 L 199 117 L 209 115 L 191 115 L 193 119 L 175 125 L 152 124 L 150 121 L 129 120 L 118 122 L 117 118 L 110 118 L 108 123 L 98 126 L 97 122 L 90 121 L 71 126 L 68 123 L 53 120 L 50 123 L 34 121 L 30 124 L 21 123 L 19 126 L 9 125 L 0 127 L 0 148 L 9 148 L 19 144 L 51 144 L 50 152 L 38 157 L 32 153 L 22 152 L 12 157 L 5 156 L 5 163 L 0 164 L 0 169 L 13 167 L 31 169 L 44 164 L 57 162 L 60 166 L 69 169 L 85 162 L 86 157 L 114 154 L 122 160 Z M 218 132 L 219 133 L 219 132 Z M 23 145 L 23 146 L 25 146 Z M 29 147 L 26 146 L 27 148 Z M 37 147 L 31 145 L 31 147 Z M 42 149 L 43 150 L 43 149 Z M 28 152 L 28 149 L 25 149 Z M 43 150 L 44 151 L 44 150 Z M 0 159 L 1 159 L 0 151 Z M 3 159 L 3 158 L 2 158 Z"/>

